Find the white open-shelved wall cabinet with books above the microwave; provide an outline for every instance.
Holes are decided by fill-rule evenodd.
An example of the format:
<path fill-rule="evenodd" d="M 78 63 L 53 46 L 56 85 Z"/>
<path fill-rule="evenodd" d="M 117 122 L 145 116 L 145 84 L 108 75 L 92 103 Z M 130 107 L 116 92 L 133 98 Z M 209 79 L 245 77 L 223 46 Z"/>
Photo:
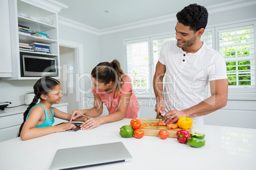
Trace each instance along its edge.
<path fill-rule="evenodd" d="M 4 79 L 38 79 L 24 74 L 30 71 L 26 66 L 32 68 L 33 63 L 25 62 L 22 56 L 53 58 L 57 66 L 60 64 L 58 12 L 64 7 L 68 6 L 57 1 L 9 0 L 12 74 Z M 55 78 L 60 78 L 58 69 Z"/>

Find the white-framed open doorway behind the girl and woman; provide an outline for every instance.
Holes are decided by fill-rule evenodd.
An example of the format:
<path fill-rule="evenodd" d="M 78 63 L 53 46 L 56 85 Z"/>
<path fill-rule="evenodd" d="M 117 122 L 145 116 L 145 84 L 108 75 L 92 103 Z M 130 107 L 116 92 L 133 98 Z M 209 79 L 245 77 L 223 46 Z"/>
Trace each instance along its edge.
<path fill-rule="evenodd" d="M 73 110 L 80 110 L 82 95 L 77 86 L 76 75 L 83 72 L 80 65 L 83 64 L 82 44 L 60 40 L 60 84 L 62 86 L 62 103 L 68 103 L 68 114 Z M 80 82 L 79 82 L 80 84 Z M 83 84 L 83 82 L 82 82 Z"/>

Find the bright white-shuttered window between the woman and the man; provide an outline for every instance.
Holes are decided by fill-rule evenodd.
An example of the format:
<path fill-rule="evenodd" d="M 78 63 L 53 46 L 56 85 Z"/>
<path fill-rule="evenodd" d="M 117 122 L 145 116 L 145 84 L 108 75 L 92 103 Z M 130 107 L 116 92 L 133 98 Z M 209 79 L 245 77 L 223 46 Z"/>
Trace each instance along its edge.
<path fill-rule="evenodd" d="M 173 37 L 158 36 L 135 41 L 126 41 L 127 74 L 137 94 L 152 94 L 152 80 L 162 44 Z"/>

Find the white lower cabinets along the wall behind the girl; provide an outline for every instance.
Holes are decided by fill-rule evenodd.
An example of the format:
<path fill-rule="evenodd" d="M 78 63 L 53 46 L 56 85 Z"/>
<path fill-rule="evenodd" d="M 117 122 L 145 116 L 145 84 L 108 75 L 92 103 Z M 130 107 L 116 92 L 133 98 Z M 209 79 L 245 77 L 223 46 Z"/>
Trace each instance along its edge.
<path fill-rule="evenodd" d="M 17 137 L 20 124 L 23 121 L 23 114 L 27 107 L 28 105 L 22 105 L 20 107 L 5 108 L 0 111 L 0 142 Z M 68 112 L 68 103 L 59 103 L 53 105 L 53 107 L 62 112 Z M 68 122 L 58 118 L 54 119 L 55 122 L 53 126 L 60 122 Z"/>

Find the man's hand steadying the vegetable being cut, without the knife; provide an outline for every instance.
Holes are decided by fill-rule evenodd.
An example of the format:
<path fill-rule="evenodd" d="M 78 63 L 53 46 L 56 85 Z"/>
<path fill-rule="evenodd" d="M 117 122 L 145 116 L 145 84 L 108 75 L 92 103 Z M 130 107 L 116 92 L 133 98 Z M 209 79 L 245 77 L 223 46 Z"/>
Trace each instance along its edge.
<path fill-rule="evenodd" d="M 164 124 L 171 124 L 171 123 L 176 123 L 178 122 L 180 117 L 186 117 L 186 114 L 183 110 L 178 111 L 178 110 L 169 110 L 169 112 L 167 112 L 164 115 L 164 118 L 162 119 L 162 122 L 164 122 Z"/>

